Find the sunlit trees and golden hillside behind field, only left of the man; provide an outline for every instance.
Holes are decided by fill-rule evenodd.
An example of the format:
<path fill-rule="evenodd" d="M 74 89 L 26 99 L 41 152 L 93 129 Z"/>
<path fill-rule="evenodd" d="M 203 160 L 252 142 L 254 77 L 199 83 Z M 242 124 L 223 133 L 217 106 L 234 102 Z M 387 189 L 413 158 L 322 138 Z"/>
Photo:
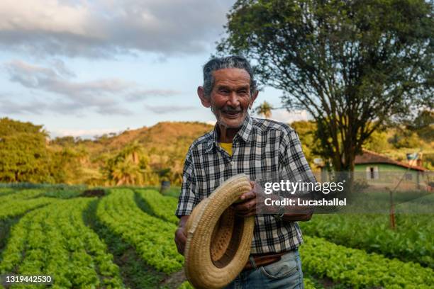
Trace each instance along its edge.
<path fill-rule="evenodd" d="M 1 118 L 0 182 L 179 185 L 191 142 L 212 129 L 205 123 L 165 122 L 94 140 L 49 140 L 42 125 Z"/>

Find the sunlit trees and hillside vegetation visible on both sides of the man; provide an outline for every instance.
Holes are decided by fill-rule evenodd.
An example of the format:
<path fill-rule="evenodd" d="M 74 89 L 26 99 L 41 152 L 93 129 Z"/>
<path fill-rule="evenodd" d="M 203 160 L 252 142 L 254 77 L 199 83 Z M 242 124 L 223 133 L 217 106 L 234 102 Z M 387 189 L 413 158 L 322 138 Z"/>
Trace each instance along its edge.
<path fill-rule="evenodd" d="M 423 165 L 433 169 L 433 119 L 433 112 L 422 112 L 411 123 L 374 132 L 364 147 L 399 161 L 405 161 L 406 153 L 422 152 Z M 316 123 L 301 120 L 291 127 L 312 169 L 318 169 L 313 162 L 321 156 Z M 212 129 L 204 123 L 165 122 L 94 140 L 49 140 L 42 125 L 1 118 L 0 182 L 157 186 L 170 181 L 179 186 L 191 142 Z"/>

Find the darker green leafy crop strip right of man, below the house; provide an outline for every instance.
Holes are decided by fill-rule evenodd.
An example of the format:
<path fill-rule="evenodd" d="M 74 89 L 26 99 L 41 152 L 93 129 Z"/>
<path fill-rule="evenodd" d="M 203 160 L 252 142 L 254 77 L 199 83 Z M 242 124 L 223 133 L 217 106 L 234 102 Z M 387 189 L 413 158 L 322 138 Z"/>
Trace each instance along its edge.
<path fill-rule="evenodd" d="M 433 215 L 398 214 L 393 230 L 386 214 L 314 215 L 301 229 L 336 244 L 434 268 Z"/>

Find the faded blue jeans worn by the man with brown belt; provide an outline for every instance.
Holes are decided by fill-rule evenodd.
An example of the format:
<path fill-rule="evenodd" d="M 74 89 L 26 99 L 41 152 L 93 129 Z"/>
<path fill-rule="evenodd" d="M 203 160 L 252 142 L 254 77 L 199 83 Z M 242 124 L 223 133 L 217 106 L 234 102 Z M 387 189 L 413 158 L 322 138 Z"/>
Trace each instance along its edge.
<path fill-rule="evenodd" d="M 227 289 L 303 289 L 303 272 L 298 250 L 289 251 L 277 262 L 243 271 Z"/>

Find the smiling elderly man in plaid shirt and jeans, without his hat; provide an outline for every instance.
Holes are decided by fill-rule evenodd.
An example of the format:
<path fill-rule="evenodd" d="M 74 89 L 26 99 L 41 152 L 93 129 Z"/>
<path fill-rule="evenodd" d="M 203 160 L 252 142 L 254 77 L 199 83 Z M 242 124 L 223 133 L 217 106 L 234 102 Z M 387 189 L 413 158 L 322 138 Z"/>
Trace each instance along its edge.
<path fill-rule="evenodd" d="M 258 91 L 250 64 L 244 57 L 213 58 L 204 66 L 204 86 L 197 94 L 216 115 L 213 131 L 193 142 L 184 165 L 182 191 L 176 215 L 180 217 L 175 242 L 180 254 L 186 242 L 185 224 L 201 200 L 236 174 L 250 180 L 265 172 L 303 176 L 314 181 L 296 132 L 284 123 L 250 117 Z M 233 205 L 243 217 L 255 215 L 250 262 L 228 288 L 303 288 L 298 247 L 302 242 L 296 221 L 311 213 L 256 215 L 257 190 Z"/>

